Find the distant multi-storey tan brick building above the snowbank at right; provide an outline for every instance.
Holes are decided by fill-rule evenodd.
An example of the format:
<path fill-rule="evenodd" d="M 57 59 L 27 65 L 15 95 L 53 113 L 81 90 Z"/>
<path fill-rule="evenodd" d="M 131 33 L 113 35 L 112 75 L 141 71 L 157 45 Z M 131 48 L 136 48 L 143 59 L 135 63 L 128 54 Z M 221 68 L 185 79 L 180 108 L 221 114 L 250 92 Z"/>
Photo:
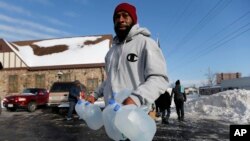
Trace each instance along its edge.
<path fill-rule="evenodd" d="M 236 72 L 236 73 L 217 73 L 216 74 L 216 83 L 221 84 L 221 81 L 223 80 L 230 80 L 230 79 L 235 79 L 235 78 L 240 78 L 241 73 Z"/>

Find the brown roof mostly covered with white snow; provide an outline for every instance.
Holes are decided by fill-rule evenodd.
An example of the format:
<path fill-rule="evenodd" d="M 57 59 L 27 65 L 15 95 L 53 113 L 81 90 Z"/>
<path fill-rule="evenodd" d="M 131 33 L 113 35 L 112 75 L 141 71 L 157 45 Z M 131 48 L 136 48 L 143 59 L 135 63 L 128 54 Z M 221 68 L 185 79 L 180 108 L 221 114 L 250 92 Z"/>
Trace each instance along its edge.
<path fill-rule="evenodd" d="M 112 35 L 7 43 L 28 67 L 104 63 Z"/>

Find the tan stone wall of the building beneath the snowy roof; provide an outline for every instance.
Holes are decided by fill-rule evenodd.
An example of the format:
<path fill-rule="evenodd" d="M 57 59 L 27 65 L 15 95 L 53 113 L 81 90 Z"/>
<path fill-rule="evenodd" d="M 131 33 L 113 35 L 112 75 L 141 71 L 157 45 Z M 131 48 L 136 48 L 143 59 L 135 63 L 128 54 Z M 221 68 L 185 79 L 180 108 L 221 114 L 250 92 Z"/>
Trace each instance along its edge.
<path fill-rule="evenodd" d="M 103 67 L 100 68 L 82 68 L 82 69 L 64 69 L 64 70 L 43 70 L 43 71 L 28 71 L 26 69 L 20 70 L 1 70 L 0 71 L 0 97 L 2 99 L 6 95 L 12 95 L 13 93 L 9 92 L 9 76 L 17 75 L 17 92 L 21 92 L 24 88 L 27 87 L 37 87 L 36 86 L 36 76 L 44 75 L 44 87 L 50 89 L 52 84 L 56 81 L 65 81 L 63 76 L 67 74 L 66 81 L 79 80 L 86 87 L 88 79 L 97 79 L 98 85 L 106 78 L 105 71 Z"/>

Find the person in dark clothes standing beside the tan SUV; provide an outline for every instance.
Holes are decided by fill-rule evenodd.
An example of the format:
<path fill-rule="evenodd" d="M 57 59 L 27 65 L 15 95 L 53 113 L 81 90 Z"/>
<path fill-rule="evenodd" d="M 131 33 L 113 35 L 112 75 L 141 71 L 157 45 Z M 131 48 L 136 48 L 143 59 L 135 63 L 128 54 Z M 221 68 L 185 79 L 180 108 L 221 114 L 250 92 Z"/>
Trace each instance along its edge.
<path fill-rule="evenodd" d="M 80 93 L 81 93 L 81 83 L 79 80 L 75 80 L 74 86 L 72 86 L 69 91 L 69 97 L 68 97 L 69 111 L 66 117 L 67 120 L 72 120 L 72 114 L 75 109 L 75 105 L 80 98 Z"/>

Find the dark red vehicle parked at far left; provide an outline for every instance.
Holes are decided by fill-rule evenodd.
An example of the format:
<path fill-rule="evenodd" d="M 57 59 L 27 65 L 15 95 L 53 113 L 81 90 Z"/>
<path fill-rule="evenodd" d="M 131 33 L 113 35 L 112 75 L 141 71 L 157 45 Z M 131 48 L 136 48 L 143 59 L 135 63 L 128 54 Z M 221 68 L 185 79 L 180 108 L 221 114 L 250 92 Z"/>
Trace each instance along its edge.
<path fill-rule="evenodd" d="M 49 93 L 46 89 L 26 88 L 20 94 L 5 97 L 3 105 L 10 111 L 25 108 L 29 112 L 34 112 L 37 106 L 46 105 L 48 99 Z"/>

